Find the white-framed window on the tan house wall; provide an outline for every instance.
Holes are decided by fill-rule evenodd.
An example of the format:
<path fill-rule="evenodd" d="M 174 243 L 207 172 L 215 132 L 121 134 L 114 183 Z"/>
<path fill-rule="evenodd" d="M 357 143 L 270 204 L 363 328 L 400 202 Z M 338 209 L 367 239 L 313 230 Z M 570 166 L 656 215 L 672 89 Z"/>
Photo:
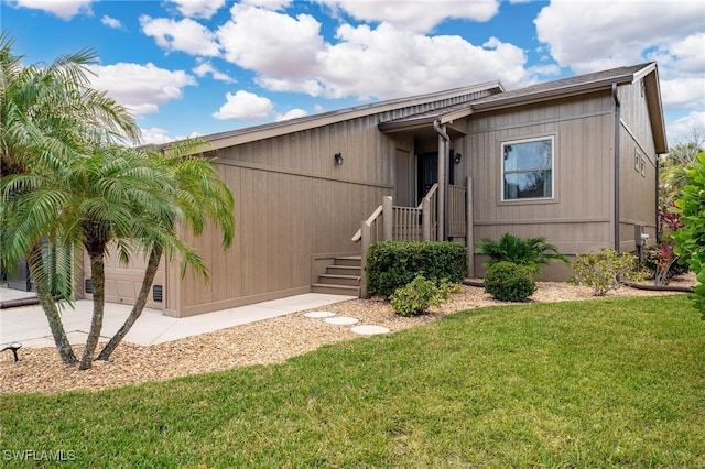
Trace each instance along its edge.
<path fill-rule="evenodd" d="M 553 137 L 502 143 L 502 200 L 553 198 Z"/>

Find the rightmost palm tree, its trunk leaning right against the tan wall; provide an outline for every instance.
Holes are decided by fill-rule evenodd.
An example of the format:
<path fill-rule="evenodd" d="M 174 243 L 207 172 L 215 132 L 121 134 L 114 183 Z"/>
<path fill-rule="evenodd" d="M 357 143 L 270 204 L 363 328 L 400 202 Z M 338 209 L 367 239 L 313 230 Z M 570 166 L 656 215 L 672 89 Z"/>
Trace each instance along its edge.
<path fill-rule="evenodd" d="M 186 263 L 196 268 L 196 271 L 206 279 L 208 277 L 208 272 L 200 263 L 200 260 L 189 257 L 193 254 L 189 250 L 175 243 L 178 241 L 177 226 L 188 228 L 195 236 L 199 236 L 208 220 L 210 220 L 223 231 L 223 248 L 227 249 L 232 243 L 236 226 L 232 216 L 235 206 L 232 194 L 210 161 L 193 154 L 203 144 L 203 142 L 196 140 L 184 141 L 169 149 L 164 155 L 159 152 L 150 153 L 150 157 L 169 168 L 175 182 L 175 190 L 170 194 L 173 197 L 173 210 L 160 212 L 161 218 L 154 220 L 161 223 L 167 232 L 172 233 L 173 238 L 152 238 L 147 236 L 140 239 L 142 249 L 149 250 L 150 253 L 140 293 L 130 315 L 100 351 L 98 360 L 108 360 L 110 358 L 110 355 L 142 314 L 150 287 L 165 250 L 169 258 L 173 258 L 175 251 L 186 255 L 184 258 Z M 162 233 L 161 230 L 156 230 L 156 232 Z M 184 271 L 182 270 L 182 275 Z"/>

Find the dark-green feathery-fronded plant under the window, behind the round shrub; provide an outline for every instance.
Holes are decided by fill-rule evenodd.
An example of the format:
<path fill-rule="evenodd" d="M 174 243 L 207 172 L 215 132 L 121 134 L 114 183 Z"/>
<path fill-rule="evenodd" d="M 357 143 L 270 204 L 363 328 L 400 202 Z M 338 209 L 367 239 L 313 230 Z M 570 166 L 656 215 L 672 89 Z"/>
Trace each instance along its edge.
<path fill-rule="evenodd" d="M 489 260 L 485 262 L 486 266 L 492 266 L 498 262 L 511 262 L 524 265 L 533 273 L 539 272 L 541 265 L 547 265 L 554 260 L 570 263 L 567 257 L 561 254 L 555 246 L 545 241 L 544 237 L 520 238 L 505 233 L 499 241 L 482 238 L 475 252 L 489 255 Z"/>

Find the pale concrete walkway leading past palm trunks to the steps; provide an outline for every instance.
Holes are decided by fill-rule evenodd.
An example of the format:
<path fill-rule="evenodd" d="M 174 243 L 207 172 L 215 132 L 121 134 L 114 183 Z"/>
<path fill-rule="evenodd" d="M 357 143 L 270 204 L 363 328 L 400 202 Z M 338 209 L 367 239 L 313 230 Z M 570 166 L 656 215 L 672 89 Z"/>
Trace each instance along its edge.
<path fill-rule="evenodd" d="M 28 295 L 31 294 L 0 287 L 0 301 L 15 299 Z M 163 316 L 159 310 L 145 308 L 124 341 L 142 346 L 169 342 L 247 323 L 319 308 L 352 298 L 355 297 L 307 293 L 185 318 Z M 130 309 L 129 305 L 106 303 L 102 339 L 107 341 L 115 335 L 130 314 Z M 74 309 L 69 307 L 63 309 L 62 321 L 72 343 L 86 342 L 91 312 L 93 303 L 85 299 L 77 301 Z M 20 342 L 22 347 L 54 346 L 54 339 L 41 306 L 0 309 L 0 349 L 12 342 Z"/>

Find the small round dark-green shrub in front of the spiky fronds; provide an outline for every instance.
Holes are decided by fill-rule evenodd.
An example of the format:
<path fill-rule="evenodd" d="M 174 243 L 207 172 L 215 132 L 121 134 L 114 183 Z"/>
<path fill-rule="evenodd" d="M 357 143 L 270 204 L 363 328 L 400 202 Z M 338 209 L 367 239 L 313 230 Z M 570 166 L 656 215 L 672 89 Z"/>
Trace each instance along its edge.
<path fill-rule="evenodd" d="M 485 291 L 500 302 L 525 302 L 536 291 L 531 269 L 500 261 L 487 271 Z"/>

